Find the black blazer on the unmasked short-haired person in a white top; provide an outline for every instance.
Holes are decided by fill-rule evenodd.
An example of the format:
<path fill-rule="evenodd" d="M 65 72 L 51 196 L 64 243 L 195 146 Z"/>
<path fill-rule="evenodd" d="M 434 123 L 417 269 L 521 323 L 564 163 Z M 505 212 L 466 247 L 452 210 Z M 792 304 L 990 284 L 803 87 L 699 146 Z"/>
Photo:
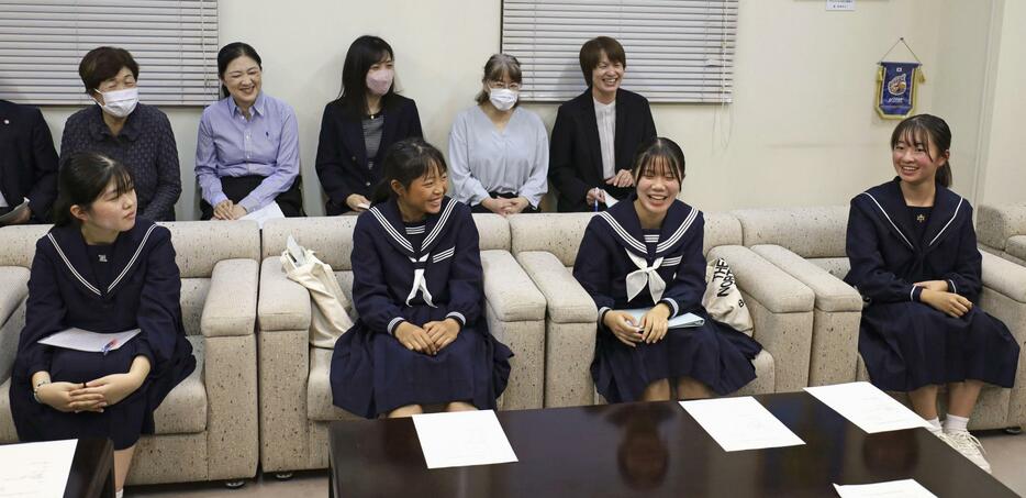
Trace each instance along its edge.
<path fill-rule="evenodd" d="M 648 100 L 632 91 L 616 90 L 615 169 L 631 169 L 637 147 L 654 136 L 656 123 Z M 633 190 L 605 185 L 602 177 L 602 151 L 591 87 L 559 106 L 549 144 L 548 179 L 558 190 L 560 212 L 594 209 L 584 199 L 588 190 L 595 187 L 617 199 L 626 198 Z"/>

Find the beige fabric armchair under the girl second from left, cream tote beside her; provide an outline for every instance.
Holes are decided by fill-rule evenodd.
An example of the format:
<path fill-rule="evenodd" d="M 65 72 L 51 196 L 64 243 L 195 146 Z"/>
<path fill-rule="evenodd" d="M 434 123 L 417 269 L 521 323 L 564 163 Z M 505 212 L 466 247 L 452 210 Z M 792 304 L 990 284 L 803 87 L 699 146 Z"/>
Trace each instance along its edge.
<path fill-rule="evenodd" d="M 289 235 L 330 264 L 352 299 L 350 254 L 357 217 L 272 220 L 264 225 L 257 305 L 260 343 L 260 463 L 265 472 L 327 465 L 327 422 L 355 419 L 332 406 L 332 350 L 310 347 L 310 296 L 286 278 L 279 256 Z M 510 228 L 475 214 L 484 269 L 484 317 L 514 357 L 502 408 L 538 408 L 544 391 L 545 298 L 509 253 Z M 354 310 L 353 317 L 356 318 Z"/>

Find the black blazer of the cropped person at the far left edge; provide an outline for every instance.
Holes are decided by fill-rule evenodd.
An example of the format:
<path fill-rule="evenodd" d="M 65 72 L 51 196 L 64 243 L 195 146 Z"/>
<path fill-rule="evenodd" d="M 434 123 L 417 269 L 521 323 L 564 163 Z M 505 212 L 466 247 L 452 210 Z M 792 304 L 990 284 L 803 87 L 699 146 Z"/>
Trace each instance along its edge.
<path fill-rule="evenodd" d="M 29 198 L 34 222 L 49 221 L 57 197 L 57 152 L 38 109 L 0 100 L 0 192 L 16 207 Z"/>

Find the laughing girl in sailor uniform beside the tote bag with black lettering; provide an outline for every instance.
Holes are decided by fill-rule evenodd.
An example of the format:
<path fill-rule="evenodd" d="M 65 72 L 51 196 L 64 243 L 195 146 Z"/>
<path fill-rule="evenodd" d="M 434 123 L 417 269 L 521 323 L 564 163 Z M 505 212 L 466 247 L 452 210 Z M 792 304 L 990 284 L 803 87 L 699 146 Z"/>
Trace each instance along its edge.
<path fill-rule="evenodd" d="M 633 175 L 635 192 L 591 220 L 573 266 L 599 308 L 595 387 L 611 402 L 666 400 L 671 388 L 677 398 L 731 394 L 756 377 L 751 359 L 761 346 L 702 308 L 705 221 L 677 200 L 683 152 L 651 139 L 639 147 Z M 621 311 L 647 307 L 639 323 Z M 667 329 L 668 319 L 687 312 L 705 324 Z"/>

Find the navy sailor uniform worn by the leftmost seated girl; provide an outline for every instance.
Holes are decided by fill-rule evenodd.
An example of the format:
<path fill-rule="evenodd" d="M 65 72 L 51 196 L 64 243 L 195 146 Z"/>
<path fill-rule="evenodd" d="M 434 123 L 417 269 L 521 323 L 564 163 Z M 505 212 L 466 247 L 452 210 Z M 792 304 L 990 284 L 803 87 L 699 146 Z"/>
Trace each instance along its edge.
<path fill-rule="evenodd" d="M 104 257 L 91 262 L 90 255 Z M 171 234 L 149 220 L 138 219 L 107 247 L 87 246 L 75 225 L 54 228 L 40 239 L 11 379 L 18 438 L 24 442 L 110 438 L 115 450 L 124 450 L 140 434 L 153 434 L 154 410 L 196 369 L 182 328 L 180 295 Z M 105 355 L 38 343 L 68 328 L 142 332 Z M 146 380 L 102 413 L 64 413 L 33 399 L 31 379 L 36 372 L 49 372 L 55 383 L 87 383 L 127 373 L 140 355 L 149 359 Z"/>

